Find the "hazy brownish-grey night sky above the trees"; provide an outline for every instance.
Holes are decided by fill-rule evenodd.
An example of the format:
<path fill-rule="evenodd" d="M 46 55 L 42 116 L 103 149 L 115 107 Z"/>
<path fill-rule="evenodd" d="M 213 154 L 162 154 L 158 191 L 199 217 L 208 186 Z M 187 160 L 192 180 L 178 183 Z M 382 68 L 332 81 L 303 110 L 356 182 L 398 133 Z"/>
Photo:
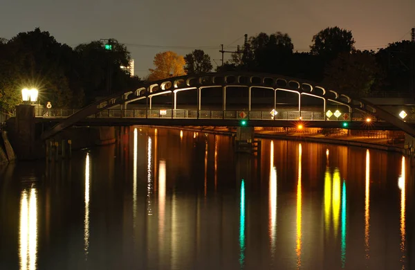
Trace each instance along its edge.
<path fill-rule="evenodd" d="M 0 0 L 0 7 L 0 37 L 39 27 L 70 46 L 115 38 L 140 77 L 169 50 L 201 48 L 216 67 L 220 44 L 234 51 L 244 34 L 288 33 L 295 51 L 309 51 L 313 35 L 339 26 L 352 31 L 356 48 L 376 50 L 410 39 L 415 27 L 414 0 Z"/>

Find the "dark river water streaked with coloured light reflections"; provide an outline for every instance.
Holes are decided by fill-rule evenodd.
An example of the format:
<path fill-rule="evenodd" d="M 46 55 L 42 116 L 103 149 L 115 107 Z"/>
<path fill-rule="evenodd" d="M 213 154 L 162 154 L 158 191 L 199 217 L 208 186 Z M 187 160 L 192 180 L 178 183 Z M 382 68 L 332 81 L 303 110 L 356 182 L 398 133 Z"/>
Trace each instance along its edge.
<path fill-rule="evenodd" d="M 414 269 L 411 161 L 363 148 L 123 129 L 0 167 L 0 269 Z"/>

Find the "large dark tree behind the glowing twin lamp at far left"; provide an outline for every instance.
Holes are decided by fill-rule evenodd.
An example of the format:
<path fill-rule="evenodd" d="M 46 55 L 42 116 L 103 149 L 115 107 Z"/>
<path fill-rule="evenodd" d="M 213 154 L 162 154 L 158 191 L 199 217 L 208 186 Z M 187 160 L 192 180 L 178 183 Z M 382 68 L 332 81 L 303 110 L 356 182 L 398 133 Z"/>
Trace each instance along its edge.
<path fill-rule="evenodd" d="M 48 32 L 35 28 L 27 33 L 19 33 L 5 46 L 1 55 L 2 66 L 12 63 L 13 68 L 8 71 L 6 78 L 6 85 L 11 88 L 3 89 L 4 92 L 20 93 L 22 88 L 36 87 L 41 104 L 50 101 L 55 107 L 71 106 L 73 91 L 68 86 L 65 74 L 64 66 L 68 63 L 62 61 L 62 44 Z M 68 59 L 71 60 L 71 56 Z M 13 100 L 11 96 L 8 98 Z"/>

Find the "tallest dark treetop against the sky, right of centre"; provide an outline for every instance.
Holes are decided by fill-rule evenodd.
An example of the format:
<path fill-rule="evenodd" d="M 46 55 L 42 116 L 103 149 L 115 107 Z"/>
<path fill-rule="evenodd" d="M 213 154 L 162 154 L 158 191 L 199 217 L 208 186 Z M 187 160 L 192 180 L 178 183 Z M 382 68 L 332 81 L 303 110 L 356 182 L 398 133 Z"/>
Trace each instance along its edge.
<path fill-rule="evenodd" d="M 338 26 L 321 30 L 313 37 L 313 45 L 310 46 L 313 55 L 320 55 L 327 62 L 335 59 L 340 53 L 353 51 L 355 41 L 351 31 L 340 29 Z"/>

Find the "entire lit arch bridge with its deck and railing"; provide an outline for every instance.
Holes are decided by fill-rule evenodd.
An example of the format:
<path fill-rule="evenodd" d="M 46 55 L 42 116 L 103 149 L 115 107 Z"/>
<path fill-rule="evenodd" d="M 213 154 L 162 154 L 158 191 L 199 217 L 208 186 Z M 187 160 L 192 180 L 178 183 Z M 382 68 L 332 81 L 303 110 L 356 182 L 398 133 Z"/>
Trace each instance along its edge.
<path fill-rule="evenodd" d="M 245 96 L 247 101 L 236 109 L 234 105 L 230 108 L 230 103 L 237 99 L 232 96 L 232 93 L 236 93 L 235 89 L 240 93 L 244 91 L 243 89 L 247 91 Z M 196 100 L 193 100 L 196 108 L 178 109 L 178 96 L 181 93 L 191 91 L 196 92 Z M 206 105 L 205 100 L 212 98 L 210 93 L 214 91 L 221 93 L 220 96 L 215 98 L 216 101 L 218 99 L 221 101 L 215 102 L 214 105 Z M 265 98 L 266 109 L 261 109 L 261 111 L 255 111 L 252 108 L 255 105 L 255 98 L 252 97 L 252 94 L 257 91 L 267 93 Z M 283 105 L 279 102 L 280 93 L 291 95 L 291 101 L 288 103 L 295 104 L 295 110 L 292 107 L 289 110 L 284 109 L 286 104 Z M 157 98 L 160 98 L 162 102 L 154 102 Z M 307 98 L 308 100 L 309 98 L 320 100 L 319 109 L 304 110 L 304 107 L 306 107 L 304 99 Z M 293 102 L 293 100 L 295 101 Z M 241 105 L 241 102 L 239 102 L 239 105 Z M 213 106 L 214 109 L 202 108 L 207 106 Z M 54 136 L 62 129 L 75 125 L 86 118 L 171 118 L 170 123 L 173 123 L 176 119 L 190 118 L 196 119 L 193 125 L 198 125 L 197 120 L 206 118 L 233 119 L 232 123 L 237 118 L 328 121 L 331 120 L 333 112 L 326 111 L 326 109 L 328 107 L 333 108 L 333 106 L 344 108 L 341 113 L 338 110 L 335 111 L 342 115 L 343 120 L 364 121 L 360 116 L 370 115 L 384 120 L 411 136 L 415 136 L 414 127 L 365 99 L 353 98 L 306 80 L 281 75 L 232 72 L 185 75 L 156 82 L 145 82 L 134 91 L 113 94 L 75 111 L 51 129 L 46 130 L 42 134 L 42 138 L 46 139 Z M 131 107 L 135 108 L 131 109 Z M 114 111 L 116 111 L 116 114 L 114 114 Z M 113 116 L 110 116 L 111 112 Z M 337 118 L 339 118 L 338 115 L 336 114 Z M 223 121 L 221 125 L 223 125 Z"/>

